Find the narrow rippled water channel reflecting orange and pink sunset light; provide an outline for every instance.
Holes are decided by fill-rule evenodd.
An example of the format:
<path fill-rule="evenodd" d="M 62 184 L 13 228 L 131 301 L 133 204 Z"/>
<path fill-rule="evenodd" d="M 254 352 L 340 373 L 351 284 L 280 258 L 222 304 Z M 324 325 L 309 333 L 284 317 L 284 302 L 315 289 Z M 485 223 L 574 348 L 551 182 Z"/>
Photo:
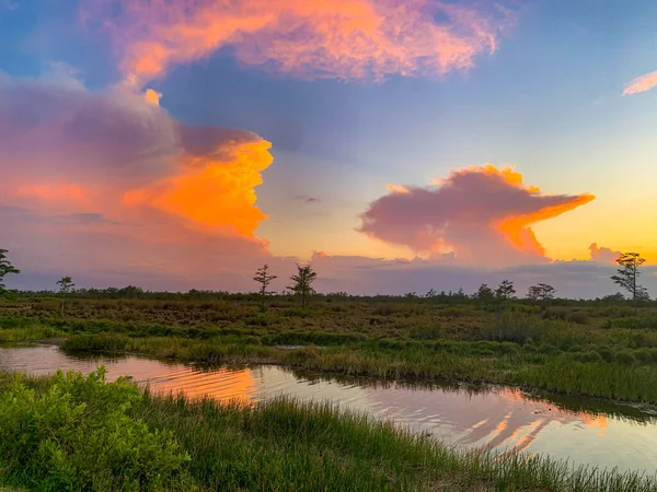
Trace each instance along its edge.
<path fill-rule="evenodd" d="M 154 391 L 243 402 L 279 395 L 331 400 L 344 409 L 392 419 L 456 447 L 515 448 L 576 464 L 657 471 L 657 418 L 632 407 L 550 401 L 515 388 L 413 387 L 293 373 L 276 366 L 204 370 L 138 356 L 73 358 L 56 347 L 0 349 L 0 370 L 34 375 L 104 364 L 107 378 L 131 375 Z"/>

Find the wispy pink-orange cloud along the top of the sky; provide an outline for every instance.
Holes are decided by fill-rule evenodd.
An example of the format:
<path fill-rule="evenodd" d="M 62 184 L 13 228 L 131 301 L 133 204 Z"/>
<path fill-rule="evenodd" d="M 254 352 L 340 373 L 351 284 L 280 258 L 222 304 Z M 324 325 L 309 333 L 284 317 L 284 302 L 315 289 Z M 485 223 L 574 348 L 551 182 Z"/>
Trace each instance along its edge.
<path fill-rule="evenodd" d="M 81 17 L 110 30 L 138 84 L 221 48 L 301 79 L 442 75 L 494 52 L 514 24 L 470 0 L 87 0 Z"/>

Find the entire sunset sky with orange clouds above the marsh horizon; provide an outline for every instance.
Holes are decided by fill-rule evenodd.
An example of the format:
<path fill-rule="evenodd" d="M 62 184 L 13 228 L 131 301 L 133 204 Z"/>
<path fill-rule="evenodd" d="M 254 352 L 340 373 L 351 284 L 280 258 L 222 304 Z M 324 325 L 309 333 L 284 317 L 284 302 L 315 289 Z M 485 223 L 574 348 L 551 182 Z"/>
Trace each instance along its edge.
<path fill-rule="evenodd" d="M 657 3 L 0 0 L 9 286 L 657 295 Z"/>

